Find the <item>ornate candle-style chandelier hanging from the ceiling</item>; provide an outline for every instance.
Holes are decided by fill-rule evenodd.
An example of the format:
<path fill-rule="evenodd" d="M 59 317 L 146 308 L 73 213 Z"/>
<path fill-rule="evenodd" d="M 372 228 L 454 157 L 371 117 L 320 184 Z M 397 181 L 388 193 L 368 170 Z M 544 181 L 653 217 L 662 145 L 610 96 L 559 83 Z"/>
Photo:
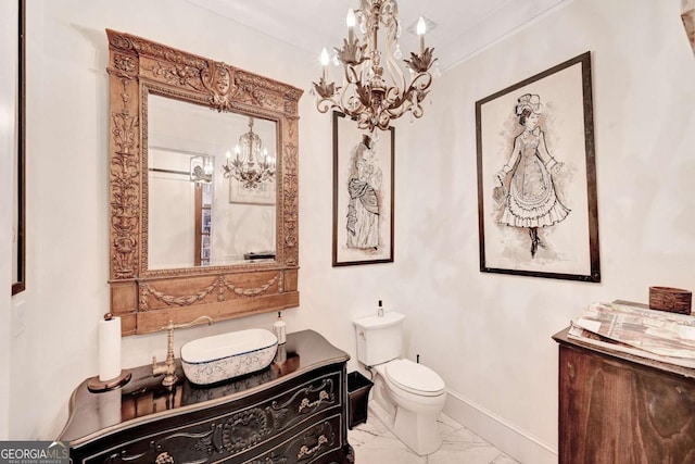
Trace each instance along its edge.
<path fill-rule="evenodd" d="M 397 43 L 401 37 L 397 12 L 395 0 L 359 0 L 359 9 L 348 12 L 348 38 L 343 39 L 341 49 L 333 49 L 333 62 L 343 66 L 343 86 L 328 81 L 330 58 L 324 49 L 324 74 L 318 84 L 313 83 L 319 112 L 337 109 L 357 120 L 361 129 L 369 131 L 375 127 L 388 129 L 391 120 L 406 112 L 414 117 L 422 116 L 421 103 L 432 84 L 430 68 L 437 61 L 432 55 L 434 49 L 425 48 L 427 26 L 420 16 L 417 23 L 419 53 L 412 52 L 409 60 L 403 60 L 410 74 L 406 79 L 397 61 L 402 58 Z M 362 39 L 355 34 L 357 24 Z M 378 49 L 377 40 L 380 26 L 387 33 L 383 53 Z M 388 76 L 384 75 L 384 65 Z"/>

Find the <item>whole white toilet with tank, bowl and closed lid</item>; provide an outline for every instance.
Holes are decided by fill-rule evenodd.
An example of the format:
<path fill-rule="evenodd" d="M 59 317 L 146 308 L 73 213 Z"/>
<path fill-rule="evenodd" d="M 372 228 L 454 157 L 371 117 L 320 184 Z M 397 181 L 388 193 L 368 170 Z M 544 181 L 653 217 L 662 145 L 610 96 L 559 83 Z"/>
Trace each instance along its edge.
<path fill-rule="evenodd" d="M 369 411 L 419 455 L 437 451 L 437 416 L 446 402 L 444 380 L 432 369 L 401 359 L 405 315 L 387 312 L 353 322 L 357 361 L 374 375 Z"/>

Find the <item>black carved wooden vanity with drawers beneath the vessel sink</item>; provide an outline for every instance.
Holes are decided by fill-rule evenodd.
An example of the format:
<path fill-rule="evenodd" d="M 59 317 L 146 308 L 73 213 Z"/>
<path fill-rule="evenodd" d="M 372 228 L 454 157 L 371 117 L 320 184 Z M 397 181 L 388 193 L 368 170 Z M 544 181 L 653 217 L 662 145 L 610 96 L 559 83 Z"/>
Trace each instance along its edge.
<path fill-rule="evenodd" d="M 123 388 L 73 392 L 60 439 L 75 463 L 349 463 L 346 362 L 313 330 L 289 334 L 264 371 L 170 388 L 152 366 Z M 178 360 L 177 360 L 178 361 Z"/>

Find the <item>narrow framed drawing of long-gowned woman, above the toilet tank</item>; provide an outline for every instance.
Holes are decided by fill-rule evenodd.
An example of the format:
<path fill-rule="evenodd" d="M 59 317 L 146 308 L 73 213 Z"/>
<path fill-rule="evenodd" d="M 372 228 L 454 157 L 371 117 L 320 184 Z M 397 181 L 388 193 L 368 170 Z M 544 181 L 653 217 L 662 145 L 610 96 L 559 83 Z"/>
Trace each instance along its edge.
<path fill-rule="evenodd" d="M 333 266 L 393 262 L 395 129 L 333 112 Z"/>

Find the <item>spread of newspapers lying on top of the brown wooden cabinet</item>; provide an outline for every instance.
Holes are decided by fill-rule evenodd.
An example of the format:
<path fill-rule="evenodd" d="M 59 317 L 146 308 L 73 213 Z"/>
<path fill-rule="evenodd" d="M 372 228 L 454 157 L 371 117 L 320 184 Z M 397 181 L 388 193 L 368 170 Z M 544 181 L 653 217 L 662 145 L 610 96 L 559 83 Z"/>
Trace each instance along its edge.
<path fill-rule="evenodd" d="M 683 367 L 695 367 L 695 317 L 616 303 L 592 303 L 569 338 Z"/>

